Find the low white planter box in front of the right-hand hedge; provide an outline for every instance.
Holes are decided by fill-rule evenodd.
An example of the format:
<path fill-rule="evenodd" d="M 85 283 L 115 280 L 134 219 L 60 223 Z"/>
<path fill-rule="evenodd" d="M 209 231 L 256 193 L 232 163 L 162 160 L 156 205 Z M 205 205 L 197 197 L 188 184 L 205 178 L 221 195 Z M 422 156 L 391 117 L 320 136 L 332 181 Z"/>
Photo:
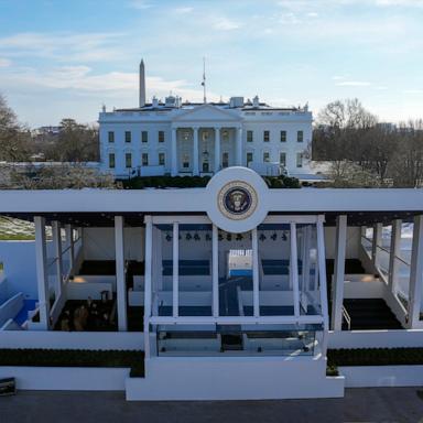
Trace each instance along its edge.
<path fill-rule="evenodd" d="M 341 366 L 346 388 L 423 386 L 423 366 Z"/>

